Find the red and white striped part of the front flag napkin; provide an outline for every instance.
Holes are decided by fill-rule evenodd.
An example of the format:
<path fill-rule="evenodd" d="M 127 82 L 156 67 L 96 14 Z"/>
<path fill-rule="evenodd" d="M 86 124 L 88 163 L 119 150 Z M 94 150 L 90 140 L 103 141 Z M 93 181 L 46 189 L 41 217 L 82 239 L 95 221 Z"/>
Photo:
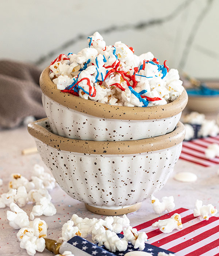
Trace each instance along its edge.
<path fill-rule="evenodd" d="M 181 215 L 183 229 L 164 234 L 151 225 L 159 219 L 170 218 L 174 213 Z M 148 243 L 167 249 L 178 256 L 219 256 L 219 218 L 211 217 L 200 221 L 193 216 L 193 210 L 179 208 L 168 214 L 152 219 L 138 226 L 137 230 L 145 231 Z"/>

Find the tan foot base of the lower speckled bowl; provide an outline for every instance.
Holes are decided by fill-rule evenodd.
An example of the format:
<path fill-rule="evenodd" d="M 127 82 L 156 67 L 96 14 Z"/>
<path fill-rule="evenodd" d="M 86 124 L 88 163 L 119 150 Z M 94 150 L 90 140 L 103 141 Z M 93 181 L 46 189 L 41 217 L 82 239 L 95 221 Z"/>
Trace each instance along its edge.
<path fill-rule="evenodd" d="M 141 203 L 137 204 L 132 204 L 130 206 L 121 206 L 121 207 L 109 207 L 107 208 L 106 206 L 93 206 L 90 204 L 85 203 L 85 207 L 96 214 L 101 214 L 101 215 L 123 215 L 127 214 L 130 212 L 137 211 L 141 207 Z"/>

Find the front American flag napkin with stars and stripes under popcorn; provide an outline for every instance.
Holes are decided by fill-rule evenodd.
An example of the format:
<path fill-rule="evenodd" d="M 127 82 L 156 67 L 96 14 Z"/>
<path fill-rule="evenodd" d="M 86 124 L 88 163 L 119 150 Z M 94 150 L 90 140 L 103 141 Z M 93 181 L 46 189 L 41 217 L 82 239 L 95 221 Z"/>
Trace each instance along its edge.
<path fill-rule="evenodd" d="M 170 218 L 174 213 L 181 215 L 183 229 L 174 230 L 169 234 L 159 229 L 152 229 L 151 225 L 159 219 Z M 135 226 L 138 231 L 145 231 L 148 241 L 145 252 L 157 256 L 158 252 L 175 253 L 176 256 L 219 256 L 219 218 L 211 217 L 208 221 L 200 221 L 193 216 L 193 210 L 179 208 L 158 218 Z M 122 237 L 122 234 L 119 234 Z M 109 252 L 81 237 L 73 237 L 61 246 L 61 253 L 72 251 L 75 256 L 123 256 L 130 251 L 138 251 L 129 243 L 125 252 Z"/>

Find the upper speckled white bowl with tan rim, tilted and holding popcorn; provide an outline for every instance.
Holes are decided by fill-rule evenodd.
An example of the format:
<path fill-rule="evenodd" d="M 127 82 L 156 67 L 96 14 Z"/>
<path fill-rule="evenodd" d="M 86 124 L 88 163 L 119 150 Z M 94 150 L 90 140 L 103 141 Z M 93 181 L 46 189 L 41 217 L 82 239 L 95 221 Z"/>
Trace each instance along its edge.
<path fill-rule="evenodd" d="M 180 120 L 188 96 L 153 107 L 114 106 L 63 93 L 49 77 L 40 77 L 42 102 L 51 130 L 72 139 L 120 141 L 152 138 L 172 132 Z"/>

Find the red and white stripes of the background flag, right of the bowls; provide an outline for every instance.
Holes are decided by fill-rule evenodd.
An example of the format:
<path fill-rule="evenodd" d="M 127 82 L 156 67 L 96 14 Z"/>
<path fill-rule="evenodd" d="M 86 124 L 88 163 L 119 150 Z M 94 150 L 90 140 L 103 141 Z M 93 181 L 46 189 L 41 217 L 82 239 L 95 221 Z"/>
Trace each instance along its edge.
<path fill-rule="evenodd" d="M 204 167 L 219 164 L 219 157 L 215 157 L 214 159 L 207 159 L 205 157 L 204 151 L 212 143 L 219 144 L 219 135 L 217 137 L 208 137 L 204 139 L 196 139 L 188 142 L 183 142 L 180 159 Z"/>

